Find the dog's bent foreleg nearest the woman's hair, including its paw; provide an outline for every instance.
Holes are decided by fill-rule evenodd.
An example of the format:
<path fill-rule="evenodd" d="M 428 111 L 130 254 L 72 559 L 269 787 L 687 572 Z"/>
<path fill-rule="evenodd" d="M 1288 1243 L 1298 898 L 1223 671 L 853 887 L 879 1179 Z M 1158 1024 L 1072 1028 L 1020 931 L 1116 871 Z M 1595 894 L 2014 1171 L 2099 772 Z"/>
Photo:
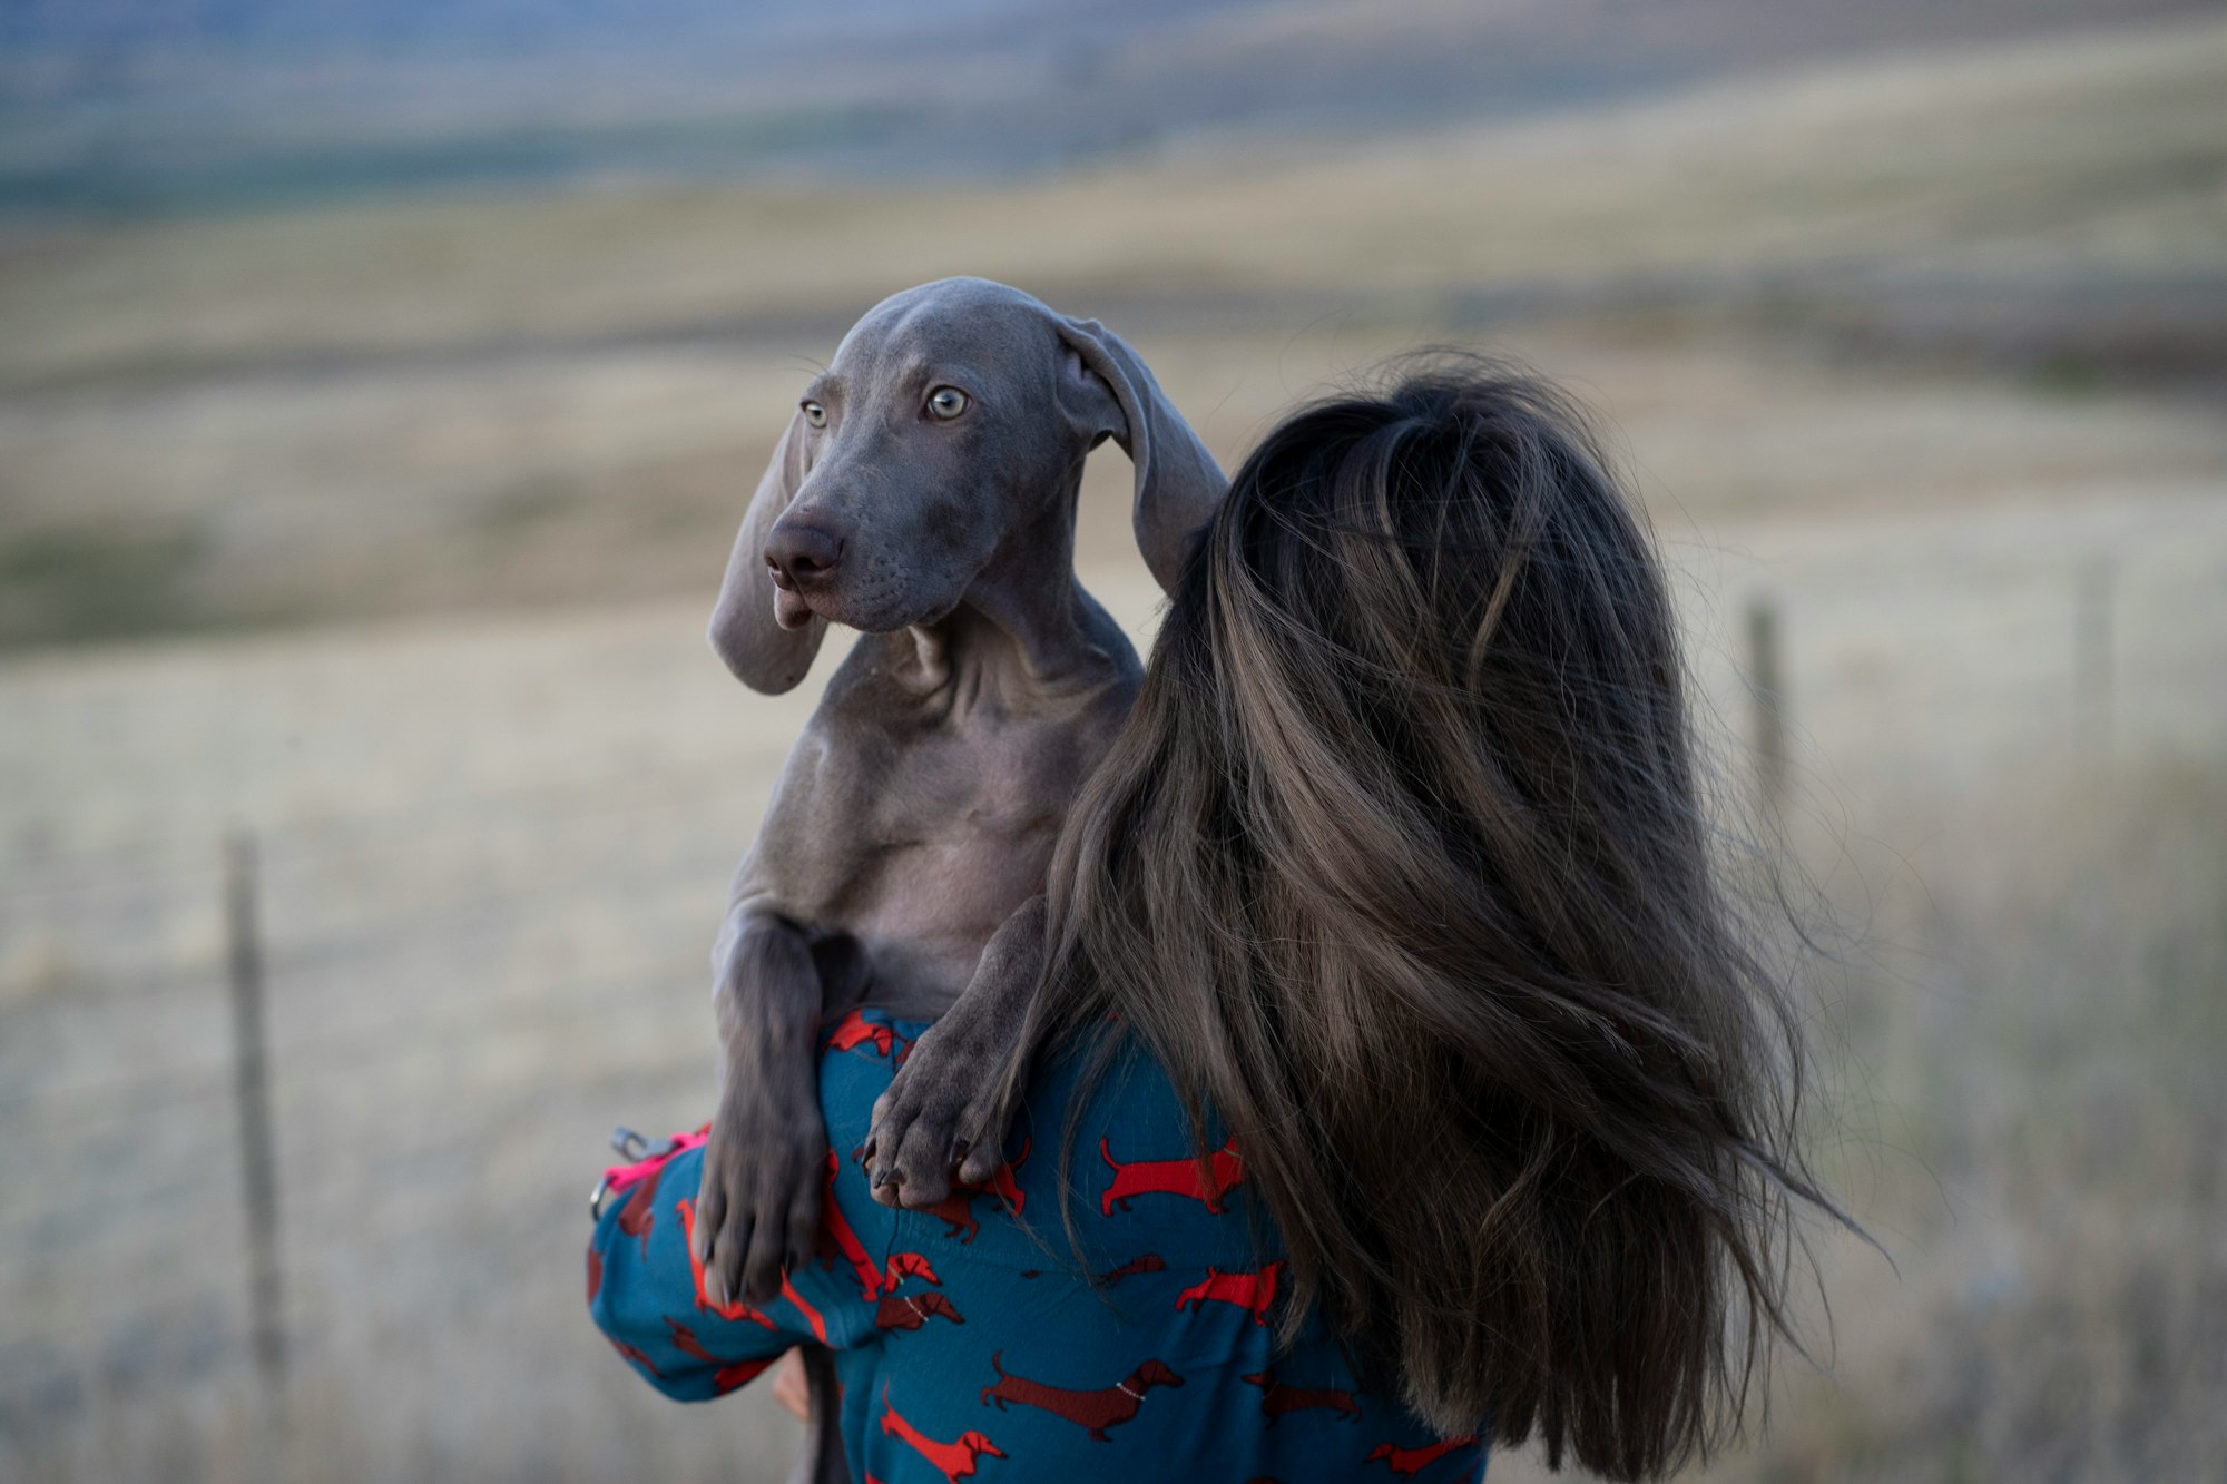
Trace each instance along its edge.
<path fill-rule="evenodd" d="M 991 934 L 967 992 L 920 1034 L 866 1132 L 866 1183 L 882 1205 L 920 1210 L 980 1185 L 1004 1163 L 1004 1061 L 1044 965 L 1044 898 Z"/>

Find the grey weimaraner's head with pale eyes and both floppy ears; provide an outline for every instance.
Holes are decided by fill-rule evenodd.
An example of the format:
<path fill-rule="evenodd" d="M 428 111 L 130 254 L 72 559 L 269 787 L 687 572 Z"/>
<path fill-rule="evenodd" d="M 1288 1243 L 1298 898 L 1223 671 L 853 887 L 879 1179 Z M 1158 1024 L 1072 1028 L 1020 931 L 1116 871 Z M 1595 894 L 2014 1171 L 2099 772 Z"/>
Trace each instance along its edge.
<path fill-rule="evenodd" d="M 1145 363 L 1093 321 L 982 279 L 875 305 L 815 377 L 728 557 L 710 640 L 766 693 L 811 668 L 826 624 L 893 633 L 949 615 L 1016 541 L 1071 533 L 1067 475 L 1114 437 L 1136 533 L 1171 586 L 1225 479 Z"/>

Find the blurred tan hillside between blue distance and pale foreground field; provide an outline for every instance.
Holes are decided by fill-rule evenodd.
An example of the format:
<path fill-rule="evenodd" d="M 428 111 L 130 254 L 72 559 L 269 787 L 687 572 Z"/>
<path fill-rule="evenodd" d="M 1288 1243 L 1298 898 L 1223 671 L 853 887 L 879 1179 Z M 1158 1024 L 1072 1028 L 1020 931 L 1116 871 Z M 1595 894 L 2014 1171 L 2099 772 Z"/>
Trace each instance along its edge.
<path fill-rule="evenodd" d="M 2223 53 L 2218 22 L 2160 22 L 1018 180 L 18 227 L 0 644 L 704 590 L 813 359 L 955 272 L 1114 323 L 1223 457 L 1341 368 L 1528 328 L 1652 359 L 1626 381 L 1710 345 L 1735 379 L 1782 377 L 1757 350 L 1797 381 L 1949 377 L 1975 401 L 1937 437 L 1982 484 L 2129 446 L 2216 468 Z M 1991 412 L 1971 372 L 2053 410 Z M 1882 392 L 1817 397 L 1862 419 Z M 1737 457 L 1655 495 L 1753 506 L 1819 468 L 1721 432 Z M 1833 499 L 1962 497 L 1877 435 Z"/>

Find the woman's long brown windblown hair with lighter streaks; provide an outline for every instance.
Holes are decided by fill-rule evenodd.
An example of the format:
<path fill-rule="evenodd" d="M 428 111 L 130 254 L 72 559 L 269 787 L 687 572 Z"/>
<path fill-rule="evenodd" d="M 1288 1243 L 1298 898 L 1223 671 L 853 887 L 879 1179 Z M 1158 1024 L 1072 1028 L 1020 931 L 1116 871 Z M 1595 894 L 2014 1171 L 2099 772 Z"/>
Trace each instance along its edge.
<path fill-rule="evenodd" d="M 1260 443 L 1069 816 L 1024 1056 L 1111 1016 L 1236 1139 L 1287 1326 L 1448 1435 L 1646 1477 L 1737 1431 L 1822 1197 L 1606 468 L 1479 361 Z"/>

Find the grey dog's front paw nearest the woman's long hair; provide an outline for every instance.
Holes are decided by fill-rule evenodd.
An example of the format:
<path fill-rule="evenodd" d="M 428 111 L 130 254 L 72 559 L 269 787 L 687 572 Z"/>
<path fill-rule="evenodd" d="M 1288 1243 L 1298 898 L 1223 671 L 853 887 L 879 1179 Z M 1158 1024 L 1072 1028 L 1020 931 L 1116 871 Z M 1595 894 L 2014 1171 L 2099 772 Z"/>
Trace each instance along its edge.
<path fill-rule="evenodd" d="M 882 1205 L 922 1210 L 951 1199 L 953 1179 L 980 1185 L 1004 1163 L 1011 1110 L 1004 1045 L 942 1021 L 913 1043 L 875 1105 L 862 1156 Z"/>

